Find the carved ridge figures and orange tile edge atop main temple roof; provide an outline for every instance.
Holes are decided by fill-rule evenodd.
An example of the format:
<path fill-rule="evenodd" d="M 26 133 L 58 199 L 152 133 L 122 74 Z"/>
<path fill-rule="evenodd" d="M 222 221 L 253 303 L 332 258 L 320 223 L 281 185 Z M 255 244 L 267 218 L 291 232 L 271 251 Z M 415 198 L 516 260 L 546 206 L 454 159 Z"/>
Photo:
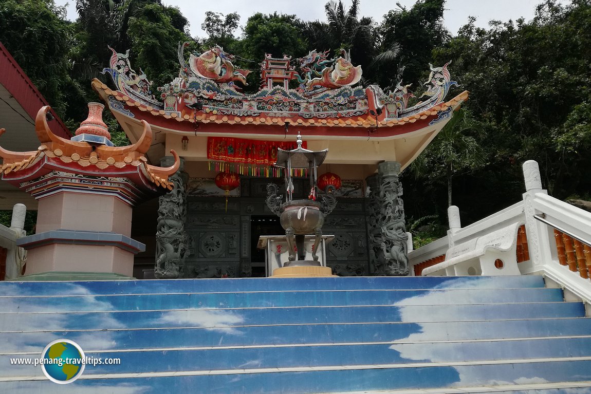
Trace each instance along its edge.
<path fill-rule="evenodd" d="M 186 43 L 179 44 L 179 76 L 159 87 L 160 100 L 151 96 L 147 78 L 138 76 L 129 64 L 128 54 L 115 53 L 111 68 L 116 90 L 93 80 L 92 86 L 109 103 L 112 111 L 130 118 L 147 119 L 152 125 L 178 133 L 195 132 L 207 135 L 223 132 L 250 135 L 282 135 L 283 126 L 313 126 L 306 132 L 313 137 L 395 136 L 426 128 L 450 118 L 467 99 L 463 92 L 444 102 L 450 87 L 447 66 L 430 66 L 424 101 L 408 106 L 410 85 L 398 84 L 393 92 L 384 93 L 378 86 L 358 86 L 361 66 L 355 66 L 349 53 L 342 50 L 336 59 L 327 51 L 311 51 L 306 57 L 292 60 L 265 56 L 261 66 L 261 89 L 253 94 L 242 93 L 248 70 L 236 69 L 233 56 L 216 46 L 202 54 L 190 54 L 184 60 Z M 295 64 L 295 66 L 294 66 Z M 297 87 L 290 89 L 289 82 Z M 422 98 L 421 96 L 420 98 Z M 175 124 L 171 124 L 171 121 Z M 258 126 L 245 128 L 207 128 L 196 130 L 198 124 Z M 415 124 L 413 124 L 415 123 Z M 404 128 L 400 126 L 407 125 Z M 269 126 L 269 127 L 267 127 Z M 281 127 L 278 127 L 281 126 Z"/>

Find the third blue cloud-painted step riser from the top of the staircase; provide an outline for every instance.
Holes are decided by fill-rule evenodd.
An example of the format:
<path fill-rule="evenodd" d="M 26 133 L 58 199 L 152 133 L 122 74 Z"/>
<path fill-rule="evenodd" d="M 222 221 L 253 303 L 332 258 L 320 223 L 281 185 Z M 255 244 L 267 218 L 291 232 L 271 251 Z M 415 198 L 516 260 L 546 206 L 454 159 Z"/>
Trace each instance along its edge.
<path fill-rule="evenodd" d="M 506 320 L 584 317 L 582 302 L 522 304 L 410 305 L 346 307 L 272 307 L 115 312 L 31 312 L 0 314 L 0 331 L 70 331 L 99 328 L 233 327 L 268 324 L 423 323 L 429 321 Z M 418 331 L 420 325 L 415 326 Z M 412 332 L 411 332 L 412 333 Z M 411 334 L 409 333 L 409 334 Z"/>

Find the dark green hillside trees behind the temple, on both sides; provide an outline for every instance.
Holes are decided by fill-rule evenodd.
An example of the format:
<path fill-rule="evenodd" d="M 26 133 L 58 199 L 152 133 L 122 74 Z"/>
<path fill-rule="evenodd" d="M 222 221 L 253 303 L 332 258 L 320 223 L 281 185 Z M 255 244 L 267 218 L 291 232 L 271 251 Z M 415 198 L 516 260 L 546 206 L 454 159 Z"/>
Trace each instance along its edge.
<path fill-rule="evenodd" d="M 362 65 L 363 84 L 392 89 L 402 79 L 416 96 L 429 63 L 452 61 L 460 86 L 450 96 L 469 90 L 470 99 L 402 174 L 413 224 L 424 230 L 419 218 L 427 217 L 430 228 L 443 229 L 449 204 L 469 223 L 514 203 L 527 159 L 540 162 L 544 187 L 555 197 L 589 196 L 590 0 L 544 0 L 531 21 L 479 28 L 470 18 L 457 32 L 444 27 L 445 0 L 397 4 L 381 21 L 360 15 L 359 4 L 319 4 L 322 21 L 278 13 L 241 21 L 236 12 L 206 12 L 192 22 L 207 37 L 190 37 L 181 11 L 158 0 L 77 0 L 74 22 L 52 0 L 1 0 L 0 41 L 72 130 L 86 116 L 85 103 L 96 100 L 90 79 L 108 82 L 100 74 L 111 56 L 108 45 L 129 49 L 134 67 L 155 86 L 175 76 L 179 41 L 190 41 L 195 51 L 222 45 L 237 66 L 252 70 L 265 53 L 300 57 L 345 48 Z M 258 76 L 249 78 L 255 89 Z"/>

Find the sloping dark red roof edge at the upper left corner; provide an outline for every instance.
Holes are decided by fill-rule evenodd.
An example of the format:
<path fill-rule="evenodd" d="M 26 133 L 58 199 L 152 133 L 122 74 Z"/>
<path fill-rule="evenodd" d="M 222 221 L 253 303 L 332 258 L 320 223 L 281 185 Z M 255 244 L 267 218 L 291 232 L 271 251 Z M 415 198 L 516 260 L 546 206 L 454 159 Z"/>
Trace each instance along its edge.
<path fill-rule="evenodd" d="M 2 43 L 0 43 L 0 84 L 17 100 L 33 122 L 39 109 L 49 105 Z M 64 122 L 55 112 L 52 111 L 52 113 L 55 119 L 49 122 L 51 131 L 60 137 L 70 139 L 70 132 Z"/>

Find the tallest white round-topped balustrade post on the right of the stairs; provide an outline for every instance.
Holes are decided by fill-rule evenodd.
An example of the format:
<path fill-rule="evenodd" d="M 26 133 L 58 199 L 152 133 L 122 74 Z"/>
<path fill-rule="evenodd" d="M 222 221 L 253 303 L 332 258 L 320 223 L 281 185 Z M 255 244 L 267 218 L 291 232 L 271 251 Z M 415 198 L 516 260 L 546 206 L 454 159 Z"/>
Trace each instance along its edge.
<path fill-rule="evenodd" d="M 542 188 L 540 167 L 537 161 L 524 162 L 523 175 L 525 181 L 525 193 L 523 194 L 525 232 L 527 233 L 532 268 L 539 268 L 551 262 L 551 245 L 554 245 L 554 238 L 550 236 L 550 232 L 553 231 L 550 226 L 534 218 L 535 214 L 541 212 L 535 211 L 533 201 L 536 194 L 548 194 L 548 191 Z"/>

